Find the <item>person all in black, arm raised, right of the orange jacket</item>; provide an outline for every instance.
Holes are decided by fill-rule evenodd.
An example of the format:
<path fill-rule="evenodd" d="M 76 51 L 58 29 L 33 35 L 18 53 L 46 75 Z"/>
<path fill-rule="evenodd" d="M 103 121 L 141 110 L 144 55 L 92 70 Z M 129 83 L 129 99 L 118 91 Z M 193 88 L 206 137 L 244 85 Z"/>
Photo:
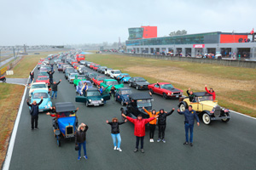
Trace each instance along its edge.
<path fill-rule="evenodd" d="M 172 115 L 173 111 L 175 111 L 174 108 L 172 108 L 172 111 L 165 112 L 163 109 L 160 110 L 160 113 L 158 114 L 158 140 L 157 142 L 160 142 L 162 140 L 163 143 L 166 143 L 165 140 L 165 132 L 166 132 L 166 117 Z"/>

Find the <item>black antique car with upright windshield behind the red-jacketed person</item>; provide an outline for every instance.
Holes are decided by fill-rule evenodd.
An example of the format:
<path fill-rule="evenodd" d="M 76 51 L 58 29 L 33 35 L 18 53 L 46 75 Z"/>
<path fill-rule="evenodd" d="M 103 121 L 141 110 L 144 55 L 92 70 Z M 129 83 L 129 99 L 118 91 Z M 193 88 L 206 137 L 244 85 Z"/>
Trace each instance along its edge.
<path fill-rule="evenodd" d="M 126 116 L 136 118 L 139 114 L 142 114 L 143 118 L 149 118 L 148 113 L 143 110 L 143 107 L 148 111 L 152 110 L 153 98 L 148 93 L 137 93 L 129 95 L 130 101 L 134 101 L 133 104 L 127 105 L 124 110 Z"/>

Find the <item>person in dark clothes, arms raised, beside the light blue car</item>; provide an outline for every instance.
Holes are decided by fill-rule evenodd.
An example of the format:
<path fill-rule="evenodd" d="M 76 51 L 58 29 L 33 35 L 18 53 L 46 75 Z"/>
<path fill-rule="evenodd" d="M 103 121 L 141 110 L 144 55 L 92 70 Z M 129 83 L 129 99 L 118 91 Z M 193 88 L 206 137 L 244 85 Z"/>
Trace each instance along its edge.
<path fill-rule="evenodd" d="M 43 102 L 43 96 L 41 97 L 41 101 L 37 104 L 37 101 L 34 100 L 32 104 L 28 102 L 28 99 L 26 99 L 26 104 L 31 107 L 30 109 L 30 115 L 31 115 L 31 129 L 34 130 L 38 129 L 38 113 L 39 113 L 39 105 L 41 105 Z M 34 126 L 35 124 L 35 126 Z"/>

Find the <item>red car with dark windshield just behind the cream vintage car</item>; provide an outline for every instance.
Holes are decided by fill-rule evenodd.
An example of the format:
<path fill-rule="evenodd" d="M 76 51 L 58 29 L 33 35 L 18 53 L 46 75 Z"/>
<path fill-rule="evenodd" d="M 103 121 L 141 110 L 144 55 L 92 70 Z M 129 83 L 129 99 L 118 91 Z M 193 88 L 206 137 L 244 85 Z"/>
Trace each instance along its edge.
<path fill-rule="evenodd" d="M 169 82 L 157 82 L 149 84 L 148 89 L 151 94 L 160 94 L 164 99 L 179 98 L 183 96 L 183 90 L 174 88 Z"/>

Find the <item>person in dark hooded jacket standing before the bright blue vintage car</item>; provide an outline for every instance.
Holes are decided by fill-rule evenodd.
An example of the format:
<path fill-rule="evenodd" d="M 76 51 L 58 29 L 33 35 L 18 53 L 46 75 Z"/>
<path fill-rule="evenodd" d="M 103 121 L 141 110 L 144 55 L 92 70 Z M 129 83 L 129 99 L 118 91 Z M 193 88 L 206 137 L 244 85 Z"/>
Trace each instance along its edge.
<path fill-rule="evenodd" d="M 75 144 L 79 145 L 79 159 L 81 159 L 81 149 L 82 146 L 84 148 L 84 159 L 88 159 L 87 154 L 86 154 L 86 131 L 88 130 L 88 126 L 85 125 L 84 123 L 81 123 L 79 125 L 78 131 L 76 132 L 75 135 Z"/>

